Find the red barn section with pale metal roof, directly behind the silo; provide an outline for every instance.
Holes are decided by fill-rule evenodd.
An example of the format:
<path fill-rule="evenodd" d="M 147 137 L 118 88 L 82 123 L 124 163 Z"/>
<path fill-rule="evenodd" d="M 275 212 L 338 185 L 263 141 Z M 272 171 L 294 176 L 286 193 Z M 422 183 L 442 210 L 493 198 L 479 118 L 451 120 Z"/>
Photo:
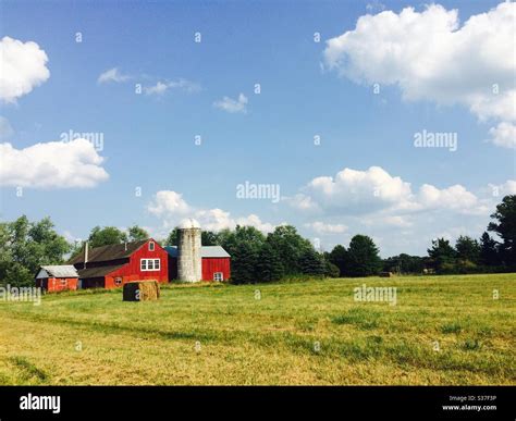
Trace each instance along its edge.
<path fill-rule="evenodd" d="M 169 253 L 169 280 L 177 278 L 177 247 L 164 247 Z M 231 275 L 231 256 L 220 246 L 202 246 L 202 281 L 228 281 Z"/>

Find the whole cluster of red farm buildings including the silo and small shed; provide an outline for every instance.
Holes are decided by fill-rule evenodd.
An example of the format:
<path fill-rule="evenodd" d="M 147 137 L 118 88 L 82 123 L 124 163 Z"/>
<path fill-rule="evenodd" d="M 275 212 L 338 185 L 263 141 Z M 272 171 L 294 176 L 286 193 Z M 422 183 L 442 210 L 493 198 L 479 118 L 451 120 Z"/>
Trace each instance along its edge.
<path fill-rule="evenodd" d="M 228 281 L 230 255 L 220 246 L 201 245 L 200 226 L 185 220 L 179 245 L 161 247 L 152 238 L 88 247 L 66 265 L 41 267 L 36 286 L 48 292 L 79 288 L 115 288 L 132 281 Z"/>

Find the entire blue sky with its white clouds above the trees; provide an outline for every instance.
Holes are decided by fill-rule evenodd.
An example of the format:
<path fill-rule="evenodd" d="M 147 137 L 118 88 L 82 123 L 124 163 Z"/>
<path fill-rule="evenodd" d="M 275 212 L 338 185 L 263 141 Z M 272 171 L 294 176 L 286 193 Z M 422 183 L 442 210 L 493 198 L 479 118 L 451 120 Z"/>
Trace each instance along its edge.
<path fill-rule="evenodd" d="M 286 222 L 323 249 L 369 234 L 382 256 L 425 253 L 438 235 L 478 237 L 516 193 L 514 25 L 499 30 L 513 35 L 508 46 L 491 35 L 514 4 L 439 4 L 2 1 L 0 38 L 14 64 L 0 88 L 0 141 L 11 145 L 1 218 L 50 215 L 71 239 L 134 223 L 163 237 L 189 215 L 210 228 Z M 444 34 L 452 10 L 458 26 Z M 47 61 L 16 60 L 35 53 L 29 41 Z M 109 71 L 115 77 L 99 82 Z M 25 76 L 30 88 L 16 90 Z M 491 100 L 493 84 L 509 102 Z M 423 129 L 456 134 L 457 150 L 416 148 Z M 52 144 L 70 131 L 101 134 L 103 147 Z M 66 159 L 76 164 L 63 170 Z M 42 183 L 49 168 L 56 177 Z M 279 185 L 282 200 L 239 199 L 246 181 Z"/>

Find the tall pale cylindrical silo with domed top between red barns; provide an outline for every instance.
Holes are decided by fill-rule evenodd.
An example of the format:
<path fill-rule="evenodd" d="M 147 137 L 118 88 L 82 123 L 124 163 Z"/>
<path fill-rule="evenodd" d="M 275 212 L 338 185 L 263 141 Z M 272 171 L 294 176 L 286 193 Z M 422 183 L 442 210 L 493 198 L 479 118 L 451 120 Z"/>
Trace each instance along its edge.
<path fill-rule="evenodd" d="M 202 259 L 200 257 L 200 225 L 189 218 L 179 226 L 177 236 L 177 278 L 185 282 L 198 282 L 202 278 Z"/>

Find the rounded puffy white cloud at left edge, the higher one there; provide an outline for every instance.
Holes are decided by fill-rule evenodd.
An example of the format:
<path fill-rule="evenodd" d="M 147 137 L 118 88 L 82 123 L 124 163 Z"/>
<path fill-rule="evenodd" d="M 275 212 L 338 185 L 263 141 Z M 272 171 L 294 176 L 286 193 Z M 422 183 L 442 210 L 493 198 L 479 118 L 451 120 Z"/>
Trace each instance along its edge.
<path fill-rule="evenodd" d="M 4 102 L 15 102 L 50 77 L 48 57 L 36 42 L 3 37 L 0 60 L 0 99 Z"/>

